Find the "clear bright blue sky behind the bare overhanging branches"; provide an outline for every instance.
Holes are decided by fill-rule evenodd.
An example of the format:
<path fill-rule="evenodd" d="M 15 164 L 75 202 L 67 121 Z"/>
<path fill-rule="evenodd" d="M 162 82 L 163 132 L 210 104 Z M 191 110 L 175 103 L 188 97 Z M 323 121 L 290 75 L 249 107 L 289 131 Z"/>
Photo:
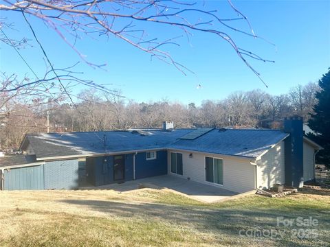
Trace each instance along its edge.
<path fill-rule="evenodd" d="M 77 48 L 90 62 L 107 63 L 107 70 L 92 69 L 83 62 L 76 67 L 84 71 L 84 78 L 100 84 L 111 84 L 109 88 L 120 89 L 122 94 L 137 102 L 169 99 L 184 104 L 203 99 L 223 99 L 233 91 L 263 89 L 267 93 L 281 94 L 296 86 L 318 80 L 330 67 L 330 1 L 233 1 L 248 17 L 254 32 L 270 40 L 256 40 L 243 34 L 233 34 L 236 43 L 259 54 L 263 58 L 275 60 L 265 63 L 250 60 L 254 69 L 269 88 L 243 64 L 228 43 L 210 34 L 197 34 L 178 40 L 180 47 L 166 47 L 166 51 L 177 62 L 195 72 L 183 75 L 175 67 L 151 61 L 150 56 L 137 50 L 118 38 L 83 37 Z M 220 16 L 234 16 L 226 1 L 206 1 L 208 10 L 219 10 Z M 1 13 L 13 21 L 15 28 L 5 30 L 12 37 L 25 36 L 33 40 L 28 26 L 19 13 Z M 194 17 L 194 16 L 190 16 Z M 54 63 L 55 67 L 67 67 L 79 60 L 76 53 L 61 38 L 43 23 L 30 18 L 37 36 Z M 239 27 L 244 27 L 238 24 Z M 173 37 L 178 30 L 162 26 L 148 26 L 151 36 Z M 245 28 L 245 30 L 247 30 Z M 11 47 L 1 44 L 1 71 L 32 75 Z M 39 47 L 21 49 L 34 71 L 43 73 L 45 63 Z M 201 89 L 197 85 L 201 84 Z M 76 88 L 80 91 L 81 86 Z"/>

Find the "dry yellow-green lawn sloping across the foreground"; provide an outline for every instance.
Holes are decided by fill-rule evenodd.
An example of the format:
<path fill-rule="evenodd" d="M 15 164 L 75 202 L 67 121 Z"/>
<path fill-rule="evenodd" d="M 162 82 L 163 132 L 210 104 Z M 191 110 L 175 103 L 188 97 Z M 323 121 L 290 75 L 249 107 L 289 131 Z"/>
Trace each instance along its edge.
<path fill-rule="evenodd" d="M 0 227 L 1 246 L 329 246 L 330 192 L 204 204 L 157 189 L 0 191 Z"/>

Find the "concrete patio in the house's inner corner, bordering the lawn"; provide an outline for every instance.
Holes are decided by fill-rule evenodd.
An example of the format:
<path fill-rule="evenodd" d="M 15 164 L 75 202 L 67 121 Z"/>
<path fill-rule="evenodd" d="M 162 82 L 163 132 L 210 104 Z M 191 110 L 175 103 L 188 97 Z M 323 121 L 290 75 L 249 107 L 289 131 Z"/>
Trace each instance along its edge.
<path fill-rule="evenodd" d="M 175 193 L 181 193 L 183 196 L 188 196 L 201 202 L 217 202 L 228 199 L 231 196 L 239 195 L 239 193 L 222 189 L 221 187 L 205 185 L 170 175 L 155 176 L 121 184 L 117 183 L 81 189 L 113 189 L 115 191 L 125 192 L 138 189 L 141 185 L 142 187 L 148 187 L 148 185 L 151 185 L 150 187 L 152 187 L 152 185 L 155 185 L 155 187 L 171 189 Z"/>

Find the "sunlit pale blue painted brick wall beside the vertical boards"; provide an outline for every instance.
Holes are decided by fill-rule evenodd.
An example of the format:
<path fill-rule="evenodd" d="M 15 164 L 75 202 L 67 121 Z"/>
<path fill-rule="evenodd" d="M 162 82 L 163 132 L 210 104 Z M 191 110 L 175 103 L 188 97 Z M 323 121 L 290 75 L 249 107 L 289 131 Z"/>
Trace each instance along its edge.
<path fill-rule="evenodd" d="M 45 165 L 45 189 L 75 189 L 78 187 L 78 159 L 50 161 Z"/>

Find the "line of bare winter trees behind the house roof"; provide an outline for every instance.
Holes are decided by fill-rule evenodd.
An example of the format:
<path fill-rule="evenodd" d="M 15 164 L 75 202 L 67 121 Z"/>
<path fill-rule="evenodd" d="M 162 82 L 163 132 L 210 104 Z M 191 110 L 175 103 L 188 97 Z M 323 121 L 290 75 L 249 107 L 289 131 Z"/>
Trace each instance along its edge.
<path fill-rule="evenodd" d="M 300 115 L 307 122 L 317 103 L 318 84 L 298 85 L 288 93 L 270 95 L 260 89 L 237 91 L 221 100 L 204 100 L 200 106 L 169 102 L 138 103 L 96 90 L 82 91 L 75 104 L 41 104 L 37 108 L 15 104 L 1 123 L 1 148 L 19 148 L 28 132 L 127 130 L 161 128 L 163 121 L 174 121 L 175 128 L 279 128 L 283 117 Z"/>

